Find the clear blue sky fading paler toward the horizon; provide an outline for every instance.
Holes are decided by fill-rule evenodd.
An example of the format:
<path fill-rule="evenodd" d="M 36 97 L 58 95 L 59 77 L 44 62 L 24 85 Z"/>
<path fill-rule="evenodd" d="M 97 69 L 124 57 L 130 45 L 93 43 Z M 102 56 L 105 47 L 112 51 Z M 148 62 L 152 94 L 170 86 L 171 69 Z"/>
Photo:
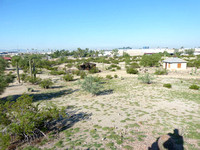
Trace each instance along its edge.
<path fill-rule="evenodd" d="M 0 49 L 199 47 L 200 0 L 0 0 Z"/>

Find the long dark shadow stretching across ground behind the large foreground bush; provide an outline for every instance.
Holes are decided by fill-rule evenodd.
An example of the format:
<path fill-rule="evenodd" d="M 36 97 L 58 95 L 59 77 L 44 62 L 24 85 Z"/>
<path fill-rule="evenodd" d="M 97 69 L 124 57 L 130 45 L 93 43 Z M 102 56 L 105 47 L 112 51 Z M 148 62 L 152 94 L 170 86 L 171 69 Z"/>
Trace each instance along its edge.
<path fill-rule="evenodd" d="M 51 100 L 52 98 L 72 94 L 76 91 L 78 91 L 78 89 L 76 89 L 76 90 L 67 89 L 67 90 L 61 90 L 61 91 L 56 91 L 56 92 L 36 93 L 36 94 L 34 93 L 34 94 L 28 94 L 28 95 L 33 97 L 33 102 L 37 102 L 37 101 L 41 101 L 41 100 Z M 22 95 L 23 94 L 3 97 L 0 99 L 0 101 L 1 101 L 1 103 L 5 103 L 6 101 L 16 101 L 16 99 Z"/>

